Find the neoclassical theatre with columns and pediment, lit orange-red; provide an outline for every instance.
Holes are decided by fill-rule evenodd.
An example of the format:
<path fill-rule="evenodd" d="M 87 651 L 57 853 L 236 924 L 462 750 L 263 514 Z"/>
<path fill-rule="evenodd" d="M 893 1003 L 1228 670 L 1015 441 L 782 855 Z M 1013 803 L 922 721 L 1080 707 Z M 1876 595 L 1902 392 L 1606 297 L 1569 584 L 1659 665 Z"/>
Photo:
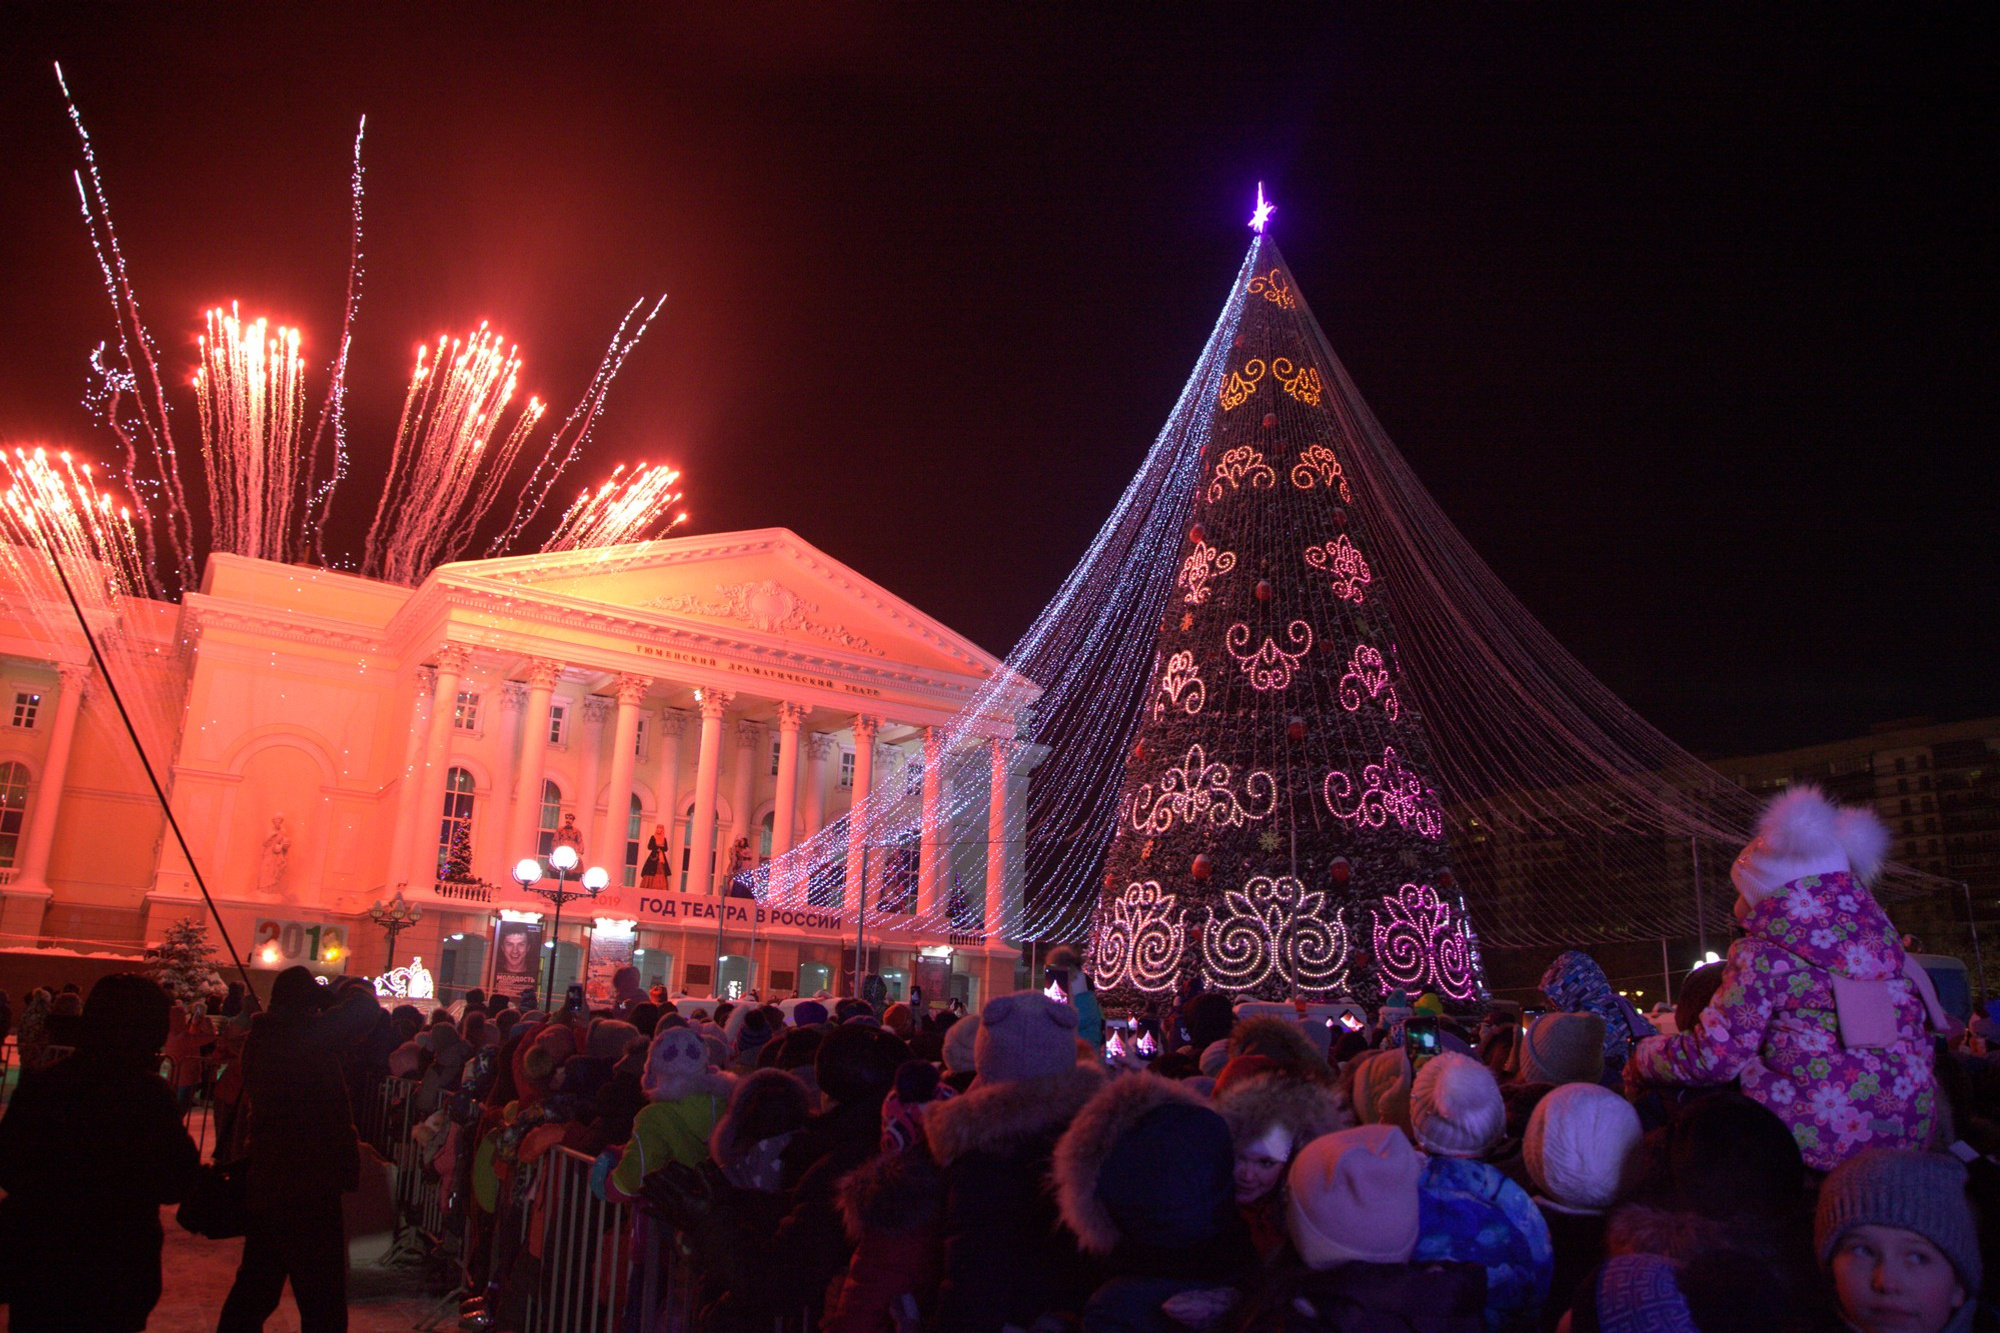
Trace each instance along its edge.
<path fill-rule="evenodd" d="M 4 592 L 0 951 L 118 953 L 206 917 L 82 636 Z M 630 959 L 674 993 L 768 999 L 846 993 L 860 939 L 896 995 L 1016 985 L 998 931 L 1036 749 L 1002 713 L 962 743 L 992 763 L 954 765 L 992 775 L 980 799 L 924 801 L 924 857 L 856 827 L 810 909 L 728 897 L 732 867 L 918 785 L 926 747 L 942 771 L 938 727 L 1004 671 L 788 530 L 470 560 L 416 588 L 218 554 L 180 604 L 100 628 L 252 971 L 422 959 L 448 999 L 532 955 L 558 993 L 602 991 Z M 576 839 L 610 885 L 558 929 L 512 869 Z M 946 891 L 950 935 L 882 911 Z M 370 909 L 398 893 L 422 913 L 390 953 Z"/>

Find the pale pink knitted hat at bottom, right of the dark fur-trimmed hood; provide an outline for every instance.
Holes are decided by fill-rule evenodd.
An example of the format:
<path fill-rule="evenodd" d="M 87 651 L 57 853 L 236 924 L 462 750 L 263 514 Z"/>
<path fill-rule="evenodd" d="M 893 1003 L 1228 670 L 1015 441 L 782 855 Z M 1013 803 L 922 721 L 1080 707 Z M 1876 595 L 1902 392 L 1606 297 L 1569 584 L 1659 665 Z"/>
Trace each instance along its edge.
<path fill-rule="evenodd" d="M 1286 1225 L 1298 1257 L 1408 1263 L 1416 1253 L 1416 1181 L 1424 1159 L 1392 1125 L 1362 1125 L 1302 1147 L 1286 1175 Z"/>

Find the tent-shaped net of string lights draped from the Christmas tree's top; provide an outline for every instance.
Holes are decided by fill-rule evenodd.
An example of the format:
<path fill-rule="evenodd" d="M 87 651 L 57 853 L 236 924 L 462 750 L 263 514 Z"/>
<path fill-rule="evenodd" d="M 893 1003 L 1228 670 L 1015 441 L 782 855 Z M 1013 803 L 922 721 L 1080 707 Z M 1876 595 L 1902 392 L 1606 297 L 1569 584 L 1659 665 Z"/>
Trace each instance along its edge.
<path fill-rule="evenodd" d="M 1272 516 L 1244 510 L 1226 546 L 1196 522 L 1210 494 Z M 1310 550 L 1306 536 L 1316 538 Z M 1300 546 L 1290 556 L 1304 560 L 1298 568 L 1274 562 L 1288 540 Z M 1226 566 L 1238 542 L 1260 554 Z M 1254 606 L 1236 598 L 1258 582 L 1272 586 L 1260 618 L 1212 616 L 1176 660 L 1174 626 L 1206 610 L 1188 600 L 1190 578 L 1232 608 Z M 1306 588 L 1310 606 L 1288 614 L 1282 594 Z M 1176 753 L 1148 753 L 1146 743 L 1134 753 L 1156 709 L 1188 713 L 1190 671 L 1202 707 L 1218 713 L 1208 745 L 1192 755 L 1182 733 Z M 1288 673 L 1298 673 L 1298 693 L 1256 707 Z M 1420 721 L 1400 751 L 1392 707 Z M 1162 919 L 1156 895 L 1200 883 L 1212 899 L 1200 919 L 1138 941 L 1150 951 L 1146 969 L 1210 941 L 1222 957 L 1228 919 L 1252 917 L 1272 957 L 1262 989 L 1364 993 L 1360 971 L 1302 985 L 1300 967 L 1330 975 L 1330 943 L 1284 935 L 1310 911 L 1308 895 L 1324 895 L 1326 907 L 1364 889 L 1376 907 L 1396 899 L 1398 921 L 1408 915 L 1412 931 L 1428 933 L 1428 977 L 1436 981 L 1444 945 L 1446 989 L 1464 989 L 1458 959 L 1470 941 L 1452 941 L 1468 917 L 1488 947 L 1692 939 L 1700 901 L 1724 939 L 1728 863 L 1758 809 L 1598 683 L 1480 560 L 1362 402 L 1264 236 L 1090 550 L 974 703 L 932 731 L 924 755 L 758 871 L 758 897 L 852 911 L 848 865 L 866 847 L 870 923 L 988 935 L 998 925 L 1002 937 L 1030 941 L 1078 939 L 1096 921 L 1102 939 L 1124 899 L 1130 941 L 1148 915 Z M 988 821 L 996 763 L 1014 781 L 1028 775 L 1024 813 L 1004 831 Z M 926 787 L 936 831 L 928 863 Z M 1162 797 L 1172 797 L 1164 811 Z M 1148 805 L 1134 825 L 1140 799 Z M 1156 875 L 1138 859 L 1144 835 L 1170 829 L 1148 831 L 1146 819 L 1200 819 L 1230 837 L 1200 881 L 1190 855 L 1162 861 Z M 1128 833 L 1112 851 L 1120 829 Z M 1356 853 L 1372 829 L 1402 839 L 1368 867 Z M 1250 845 L 1234 837 L 1246 831 Z M 1022 869 L 1020 895 L 986 889 L 996 833 Z M 1118 863 L 1110 875 L 1108 855 Z M 1356 885 L 1364 869 L 1396 883 Z M 1286 877 L 1294 883 L 1278 883 Z M 1882 891 L 1940 887 L 1892 867 Z M 1348 925 L 1352 961 L 1378 965 L 1386 985 L 1394 973 L 1382 951 L 1408 941 L 1380 933 L 1380 911 Z"/>

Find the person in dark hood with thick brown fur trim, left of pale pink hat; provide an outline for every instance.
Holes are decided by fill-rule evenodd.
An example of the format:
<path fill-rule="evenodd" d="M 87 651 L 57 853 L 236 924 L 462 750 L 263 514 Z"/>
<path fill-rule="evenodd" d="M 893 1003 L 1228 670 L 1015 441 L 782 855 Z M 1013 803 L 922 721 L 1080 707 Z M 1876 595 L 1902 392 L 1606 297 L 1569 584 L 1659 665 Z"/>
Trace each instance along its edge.
<path fill-rule="evenodd" d="M 1170 1079 L 1112 1079 L 1076 1113 L 1052 1175 L 1064 1225 L 1104 1267 L 1084 1333 L 1202 1327 L 1234 1303 L 1258 1253 L 1232 1167 L 1228 1121 Z"/>

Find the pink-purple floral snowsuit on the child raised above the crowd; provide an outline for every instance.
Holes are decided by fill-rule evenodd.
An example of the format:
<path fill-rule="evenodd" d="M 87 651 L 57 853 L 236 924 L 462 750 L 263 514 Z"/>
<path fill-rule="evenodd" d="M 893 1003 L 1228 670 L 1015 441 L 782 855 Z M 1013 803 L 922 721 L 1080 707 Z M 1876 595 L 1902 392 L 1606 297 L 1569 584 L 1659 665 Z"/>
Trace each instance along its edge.
<path fill-rule="evenodd" d="M 1742 1079 L 1816 1171 L 1870 1147 L 1928 1147 L 1938 1093 L 1924 1001 L 1902 975 L 1902 945 L 1874 897 L 1846 873 L 1806 875 L 1750 909 L 1744 931 L 1694 1031 L 1634 1047 L 1626 1085 Z M 1842 1045 L 1836 975 L 1888 981 L 1890 1045 Z"/>

